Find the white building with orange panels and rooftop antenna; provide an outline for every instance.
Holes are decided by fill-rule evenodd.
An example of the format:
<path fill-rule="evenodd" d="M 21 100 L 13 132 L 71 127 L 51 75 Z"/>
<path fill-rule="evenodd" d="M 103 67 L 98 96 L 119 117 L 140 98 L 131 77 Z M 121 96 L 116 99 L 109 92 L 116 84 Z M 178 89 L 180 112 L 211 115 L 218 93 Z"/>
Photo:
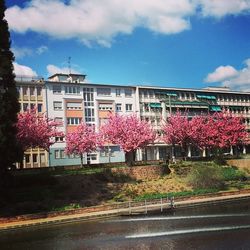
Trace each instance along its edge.
<path fill-rule="evenodd" d="M 104 124 L 110 112 L 131 114 L 136 112 L 135 87 L 92 84 L 85 75 L 55 74 L 45 82 L 48 117 L 61 123 L 61 131 L 72 132 L 82 121 L 96 130 Z M 49 152 L 49 166 L 80 164 L 79 157 L 64 153 L 65 139 L 56 138 Z M 124 161 L 124 154 L 117 145 L 107 145 L 98 152 L 86 154 L 84 163 Z"/>

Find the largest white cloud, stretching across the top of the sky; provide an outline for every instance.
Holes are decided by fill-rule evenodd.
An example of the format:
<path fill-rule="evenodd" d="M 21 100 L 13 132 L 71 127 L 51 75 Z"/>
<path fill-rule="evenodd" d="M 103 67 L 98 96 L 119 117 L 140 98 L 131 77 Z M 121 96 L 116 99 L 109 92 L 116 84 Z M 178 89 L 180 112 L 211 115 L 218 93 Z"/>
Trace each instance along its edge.
<path fill-rule="evenodd" d="M 32 0 L 24 8 L 7 9 L 11 30 L 35 31 L 51 37 L 78 38 L 83 43 L 110 46 L 119 34 L 137 27 L 173 34 L 189 29 L 194 12 L 190 0 Z"/>

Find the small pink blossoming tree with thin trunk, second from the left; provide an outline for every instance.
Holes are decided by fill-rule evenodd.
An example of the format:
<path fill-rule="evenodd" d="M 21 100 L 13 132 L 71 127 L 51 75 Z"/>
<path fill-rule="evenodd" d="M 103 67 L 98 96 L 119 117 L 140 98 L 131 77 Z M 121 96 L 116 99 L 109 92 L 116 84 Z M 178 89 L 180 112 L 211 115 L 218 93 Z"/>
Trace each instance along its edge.
<path fill-rule="evenodd" d="M 76 131 L 68 133 L 66 136 L 66 154 L 76 154 L 81 158 L 81 167 L 83 167 L 83 155 L 94 152 L 99 146 L 102 146 L 102 139 L 95 132 L 93 126 L 81 123 Z"/>

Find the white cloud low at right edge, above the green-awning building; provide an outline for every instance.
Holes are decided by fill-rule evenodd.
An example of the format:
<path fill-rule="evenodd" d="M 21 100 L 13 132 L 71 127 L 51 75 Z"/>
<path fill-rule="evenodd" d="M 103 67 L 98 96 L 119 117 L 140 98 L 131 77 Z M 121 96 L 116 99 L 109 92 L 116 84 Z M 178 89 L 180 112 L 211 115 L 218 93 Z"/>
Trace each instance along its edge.
<path fill-rule="evenodd" d="M 220 82 L 222 86 L 234 90 L 250 92 L 250 58 L 244 62 L 245 67 L 236 70 L 232 66 L 220 66 L 208 74 L 206 82 Z"/>

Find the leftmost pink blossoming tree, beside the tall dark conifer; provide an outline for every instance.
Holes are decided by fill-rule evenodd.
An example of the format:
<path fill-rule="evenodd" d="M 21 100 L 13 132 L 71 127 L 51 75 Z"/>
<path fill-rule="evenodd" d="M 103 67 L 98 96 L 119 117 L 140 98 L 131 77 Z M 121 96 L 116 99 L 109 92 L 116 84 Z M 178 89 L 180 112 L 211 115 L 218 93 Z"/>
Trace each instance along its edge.
<path fill-rule="evenodd" d="M 62 137 L 64 134 L 58 131 L 58 123 L 47 118 L 46 115 L 37 113 L 37 109 L 30 109 L 18 114 L 17 140 L 23 151 L 28 148 L 49 147 L 55 143 L 55 137 Z"/>

